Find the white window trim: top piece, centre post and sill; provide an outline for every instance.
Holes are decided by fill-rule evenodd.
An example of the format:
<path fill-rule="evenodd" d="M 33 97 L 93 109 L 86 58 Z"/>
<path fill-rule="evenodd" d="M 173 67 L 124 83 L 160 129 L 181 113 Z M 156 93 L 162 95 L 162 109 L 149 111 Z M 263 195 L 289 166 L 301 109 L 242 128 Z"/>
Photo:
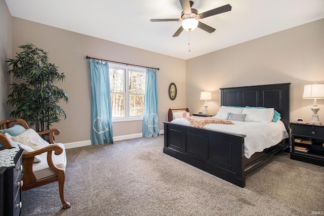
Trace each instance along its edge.
<path fill-rule="evenodd" d="M 124 64 L 116 64 L 109 63 L 109 68 L 114 69 L 123 69 L 124 70 L 124 95 L 125 95 L 125 117 L 111 117 L 112 122 L 119 121 L 138 121 L 143 120 L 143 115 L 141 116 L 130 116 L 130 91 L 129 91 L 129 70 L 146 73 L 146 68 L 124 65 Z"/>

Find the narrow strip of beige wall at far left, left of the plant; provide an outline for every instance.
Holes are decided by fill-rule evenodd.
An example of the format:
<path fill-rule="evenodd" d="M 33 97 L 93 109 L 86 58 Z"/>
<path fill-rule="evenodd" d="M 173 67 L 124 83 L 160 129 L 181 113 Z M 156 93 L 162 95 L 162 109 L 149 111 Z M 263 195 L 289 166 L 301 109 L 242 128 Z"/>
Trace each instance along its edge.
<path fill-rule="evenodd" d="M 8 64 L 5 62 L 12 57 L 11 22 L 12 18 L 7 4 L 5 0 L 0 0 L 0 120 L 5 119 L 11 111 L 6 104 L 11 78 L 7 73 Z"/>

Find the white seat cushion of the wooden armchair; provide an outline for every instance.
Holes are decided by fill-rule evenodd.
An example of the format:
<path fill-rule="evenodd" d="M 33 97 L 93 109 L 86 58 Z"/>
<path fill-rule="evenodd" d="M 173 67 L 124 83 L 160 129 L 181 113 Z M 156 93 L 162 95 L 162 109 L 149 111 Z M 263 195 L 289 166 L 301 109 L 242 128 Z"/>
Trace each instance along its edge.
<path fill-rule="evenodd" d="M 52 152 L 53 162 L 57 167 L 65 170 L 65 166 L 66 166 L 65 147 L 62 143 L 56 143 L 56 144 L 63 148 L 63 152 L 62 152 L 62 154 L 55 155 L 54 151 L 53 151 Z M 41 180 L 43 178 L 55 176 L 56 175 L 55 172 L 52 171 L 52 169 L 50 169 L 50 167 L 47 163 L 47 152 L 40 154 L 39 157 L 41 157 L 42 162 L 33 163 L 33 165 L 32 165 L 32 170 L 34 172 L 36 180 Z"/>

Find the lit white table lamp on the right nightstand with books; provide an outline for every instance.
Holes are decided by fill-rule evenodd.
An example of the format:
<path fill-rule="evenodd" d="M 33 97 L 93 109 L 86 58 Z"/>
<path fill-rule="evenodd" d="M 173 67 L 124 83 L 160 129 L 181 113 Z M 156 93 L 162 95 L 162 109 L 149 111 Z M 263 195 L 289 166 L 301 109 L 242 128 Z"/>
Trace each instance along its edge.
<path fill-rule="evenodd" d="M 317 115 L 317 111 L 319 110 L 319 107 L 317 107 L 317 99 L 324 99 L 324 84 L 314 83 L 305 85 L 303 98 L 314 99 L 313 107 L 311 108 L 311 110 L 313 111 L 313 115 L 310 123 L 320 124 L 321 122 L 319 122 L 319 118 Z"/>

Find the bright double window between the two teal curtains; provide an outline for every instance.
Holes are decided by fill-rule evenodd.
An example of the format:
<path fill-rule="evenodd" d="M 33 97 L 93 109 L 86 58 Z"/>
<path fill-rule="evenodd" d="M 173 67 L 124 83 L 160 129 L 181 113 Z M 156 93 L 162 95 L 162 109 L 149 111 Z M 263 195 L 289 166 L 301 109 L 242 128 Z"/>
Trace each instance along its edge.
<path fill-rule="evenodd" d="M 112 121 L 142 120 L 145 68 L 109 63 Z"/>

